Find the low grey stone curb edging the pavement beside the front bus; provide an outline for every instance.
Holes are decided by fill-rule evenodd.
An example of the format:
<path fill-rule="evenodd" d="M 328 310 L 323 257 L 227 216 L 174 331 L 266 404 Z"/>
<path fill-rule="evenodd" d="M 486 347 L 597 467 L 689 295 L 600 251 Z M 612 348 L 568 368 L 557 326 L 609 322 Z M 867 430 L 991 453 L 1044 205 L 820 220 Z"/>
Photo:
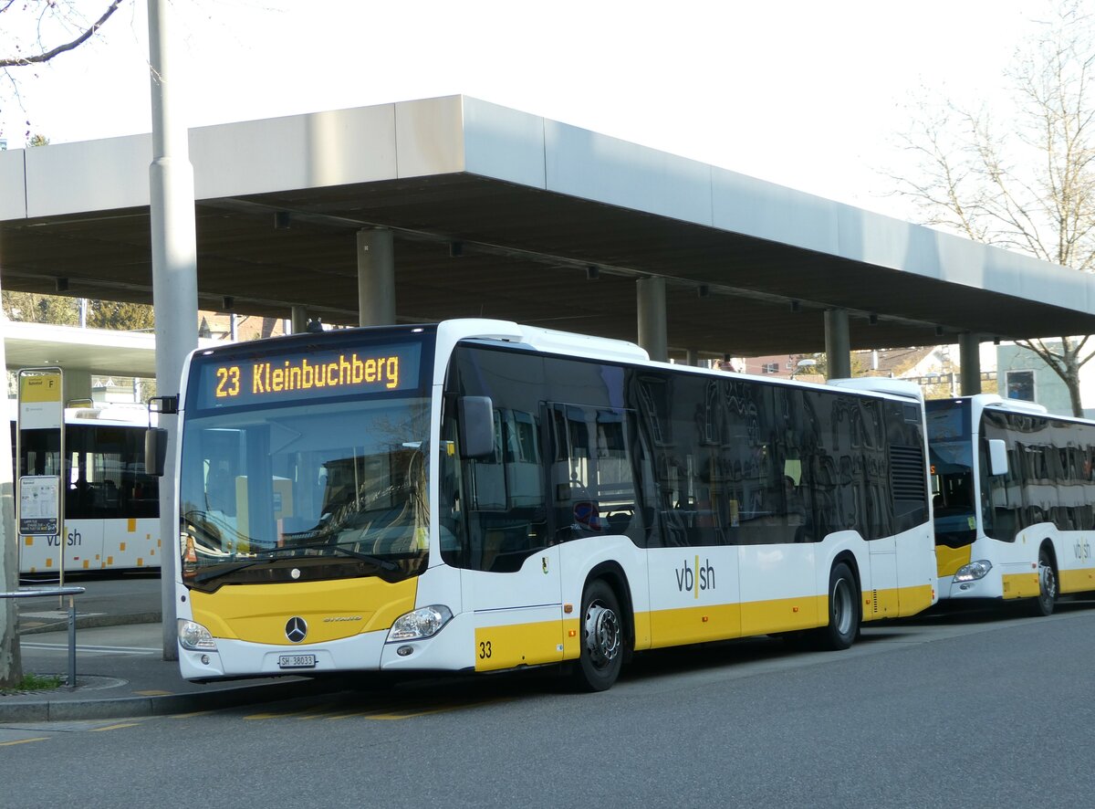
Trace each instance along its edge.
<path fill-rule="evenodd" d="M 331 694 L 338 691 L 346 691 L 346 681 L 342 677 L 291 683 L 264 683 L 262 685 L 219 688 L 205 693 L 166 694 L 163 696 L 39 699 L 9 705 L 0 702 L 0 722 L 57 722 L 78 719 L 166 716 L 196 710 L 219 710 L 239 705 L 254 705 L 255 703 Z"/>

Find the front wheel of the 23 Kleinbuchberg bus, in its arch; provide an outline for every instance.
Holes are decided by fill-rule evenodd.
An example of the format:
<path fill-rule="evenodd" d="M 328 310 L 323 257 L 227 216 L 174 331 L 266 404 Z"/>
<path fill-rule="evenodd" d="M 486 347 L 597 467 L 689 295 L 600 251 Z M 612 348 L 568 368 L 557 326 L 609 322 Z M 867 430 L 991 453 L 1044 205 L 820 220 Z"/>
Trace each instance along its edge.
<path fill-rule="evenodd" d="M 627 617 L 630 604 L 631 594 L 622 570 L 606 565 L 590 571 L 581 589 L 580 651 L 572 670 L 579 691 L 608 691 L 620 676 L 625 653 L 634 647 L 633 622 Z"/>

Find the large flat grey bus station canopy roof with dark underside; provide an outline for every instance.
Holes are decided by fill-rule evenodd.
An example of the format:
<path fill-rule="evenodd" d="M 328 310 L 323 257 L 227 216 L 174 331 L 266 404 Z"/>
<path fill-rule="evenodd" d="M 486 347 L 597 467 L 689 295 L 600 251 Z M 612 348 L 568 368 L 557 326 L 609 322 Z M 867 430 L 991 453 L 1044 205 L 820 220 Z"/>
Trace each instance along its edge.
<path fill-rule="evenodd" d="M 356 232 L 394 233 L 401 322 L 495 317 L 821 351 L 1095 332 L 1095 278 L 682 157 L 446 96 L 191 130 L 199 307 L 358 322 Z M 0 152 L 4 289 L 151 301 L 151 136 Z"/>

